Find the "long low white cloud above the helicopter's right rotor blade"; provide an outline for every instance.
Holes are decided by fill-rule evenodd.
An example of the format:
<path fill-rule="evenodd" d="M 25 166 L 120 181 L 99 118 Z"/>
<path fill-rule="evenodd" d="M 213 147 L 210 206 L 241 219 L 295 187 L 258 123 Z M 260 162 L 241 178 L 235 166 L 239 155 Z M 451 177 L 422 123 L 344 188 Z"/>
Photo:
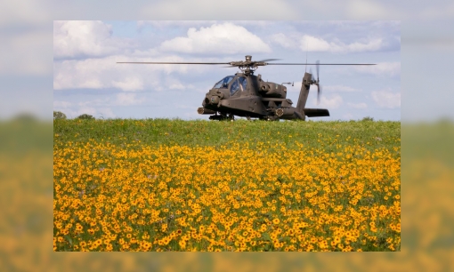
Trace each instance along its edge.
<path fill-rule="evenodd" d="M 369 38 L 364 41 L 345 44 L 335 39 L 326 41 L 316 36 L 304 35 L 299 40 L 299 49 L 303 52 L 374 52 L 385 47 L 381 38 Z"/>

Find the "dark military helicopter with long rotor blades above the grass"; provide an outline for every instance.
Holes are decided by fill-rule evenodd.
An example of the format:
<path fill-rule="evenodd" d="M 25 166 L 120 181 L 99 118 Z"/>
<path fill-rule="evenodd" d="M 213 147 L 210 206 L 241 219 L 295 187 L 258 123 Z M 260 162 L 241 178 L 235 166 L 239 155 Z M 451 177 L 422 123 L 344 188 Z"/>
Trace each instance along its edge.
<path fill-rule="evenodd" d="M 197 64 L 197 65 L 227 65 L 236 67 L 241 72 L 233 76 L 225 76 L 211 88 L 204 100 L 202 107 L 197 109 L 200 115 L 210 115 L 210 120 L 231 120 L 235 116 L 258 118 L 260 120 L 279 121 L 305 120 L 307 117 L 329 116 L 327 108 L 305 108 L 311 85 L 317 86 L 317 104 L 320 104 L 321 85 L 319 79 L 320 65 L 375 65 L 357 63 L 270 63 L 279 59 L 252 60 L 251 55 L 246 60 L 231 62 L 117 62 L 130 64 Z M 304 72 L 299 98 L 294 107 L 292 100 L 287 98 L 287 87 L 282 83 L 263 81 L 262 76 L 254 75 L 260 66 L 267 65 L 315 65 L 317 78 L 312 73 Z M 293 86 L 293 84 L 292 84 Z"/>

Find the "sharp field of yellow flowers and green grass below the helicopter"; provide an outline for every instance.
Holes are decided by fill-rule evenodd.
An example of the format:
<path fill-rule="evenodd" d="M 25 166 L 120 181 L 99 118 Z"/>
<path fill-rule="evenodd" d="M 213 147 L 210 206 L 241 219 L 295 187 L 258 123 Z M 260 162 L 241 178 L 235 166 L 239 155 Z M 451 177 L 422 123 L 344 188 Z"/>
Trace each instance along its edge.
<path fill-rule="evenodd" d="M 56 120 L 54 251 L 400 251 L 399 122 Z"/>

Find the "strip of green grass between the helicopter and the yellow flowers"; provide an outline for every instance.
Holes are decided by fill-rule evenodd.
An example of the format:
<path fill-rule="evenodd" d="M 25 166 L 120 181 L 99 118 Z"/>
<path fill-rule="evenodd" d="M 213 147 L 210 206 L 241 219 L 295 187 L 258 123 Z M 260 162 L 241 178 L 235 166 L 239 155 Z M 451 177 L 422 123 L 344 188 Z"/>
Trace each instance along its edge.
<path fill-rule="evenodd" d="M 321 143 L 352 144 L 370 148 L 392 148 L 401 139 L 401 122 L 333 121 L 333 122 L 266 122 L 183 121 L 168 119 L 55 120 L 54 137 L 59 141 L 109 141 L 126 144 L 140 140 L 143 144 L 221 146 L 228 142 L 286 143 L 296 141 L 319 148 Z M 58 135 L 58 136 L 55 136 Z M 291 137 L 290 137 L 291 136 Z M 54 138 L 55 140 L 55 138 Z M 400 144 L 399 144 L 400 145 Z M 329 147 L 323 147 L 329 148 Z"/>

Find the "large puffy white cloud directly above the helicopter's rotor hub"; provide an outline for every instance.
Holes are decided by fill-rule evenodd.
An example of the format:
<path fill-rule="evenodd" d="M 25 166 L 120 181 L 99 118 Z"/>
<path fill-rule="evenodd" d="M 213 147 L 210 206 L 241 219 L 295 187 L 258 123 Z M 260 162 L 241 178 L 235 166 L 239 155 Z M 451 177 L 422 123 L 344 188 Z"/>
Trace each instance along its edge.
<path fill-rule="evenodd" d="M 160 49 L 168 52 L 185 53 L 252 53 L 271 52 L 260 37 L 246 28 L 230 22 L 214 24 L 209 28 L 189 28 L 187 36 L 175 37 L 161 44 Z"/>

